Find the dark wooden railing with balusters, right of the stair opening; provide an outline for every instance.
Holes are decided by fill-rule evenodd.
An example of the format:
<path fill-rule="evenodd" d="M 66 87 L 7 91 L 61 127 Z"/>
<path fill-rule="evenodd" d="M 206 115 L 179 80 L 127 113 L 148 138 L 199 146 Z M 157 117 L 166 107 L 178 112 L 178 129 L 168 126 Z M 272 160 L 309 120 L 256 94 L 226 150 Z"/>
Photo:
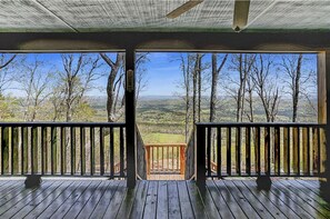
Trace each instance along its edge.
<path fill-rule="evenodd" d="M 320 176 L 324 125 L 197 123 L 197 179 L 226 176 Z"/>

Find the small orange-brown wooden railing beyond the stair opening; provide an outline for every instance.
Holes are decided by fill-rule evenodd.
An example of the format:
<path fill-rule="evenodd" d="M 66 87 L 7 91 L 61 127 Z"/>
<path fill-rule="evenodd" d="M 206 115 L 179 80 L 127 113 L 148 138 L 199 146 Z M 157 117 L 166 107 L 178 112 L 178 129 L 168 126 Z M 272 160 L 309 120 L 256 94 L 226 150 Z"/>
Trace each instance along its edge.
<path fill-rule="evenodd" d="M 144 145 L 148 175 L 184 175 L 186 143 Z"/>

